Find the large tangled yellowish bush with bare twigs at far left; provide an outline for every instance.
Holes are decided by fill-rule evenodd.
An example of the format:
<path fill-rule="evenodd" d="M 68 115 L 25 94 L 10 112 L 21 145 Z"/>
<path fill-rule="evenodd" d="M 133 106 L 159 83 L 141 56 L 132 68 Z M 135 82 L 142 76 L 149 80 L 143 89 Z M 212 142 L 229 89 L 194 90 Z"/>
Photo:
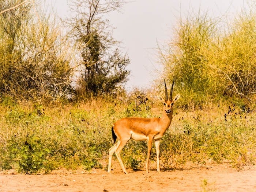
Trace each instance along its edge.
<path fill-rule="evenodd" d="M 0 11 L 19 1 L 0 1 Z M 16 98 L 60 98 L 69 93 L 71 68 L 61 30 L 32 3 L 0 15 L 0 94 Z"/>

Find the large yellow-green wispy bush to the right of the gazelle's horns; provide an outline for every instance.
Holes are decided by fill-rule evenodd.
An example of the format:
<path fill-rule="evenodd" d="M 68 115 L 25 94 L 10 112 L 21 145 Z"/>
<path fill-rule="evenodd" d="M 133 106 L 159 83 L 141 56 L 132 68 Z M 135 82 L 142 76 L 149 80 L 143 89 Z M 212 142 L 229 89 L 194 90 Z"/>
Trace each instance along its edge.
<path fill-rule="evenodd" d="M 252 101 L 255 37 L 253 11 L 242 12 L 233 23 L 200 12 L 180 19 L 162 57 L 165 74 L 176 80 L 176 89 L 184 96 L 183 105 L 202 107 L 208 101 L 232 97 Z"/>

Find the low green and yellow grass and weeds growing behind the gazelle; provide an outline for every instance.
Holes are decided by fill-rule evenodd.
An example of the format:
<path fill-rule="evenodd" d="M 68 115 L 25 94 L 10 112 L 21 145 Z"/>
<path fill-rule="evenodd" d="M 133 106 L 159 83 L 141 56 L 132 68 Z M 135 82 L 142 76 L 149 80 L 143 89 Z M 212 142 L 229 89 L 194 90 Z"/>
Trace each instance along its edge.
<path fill-rule="evenodd" d="M 158 101 L 147 97 L 141 103 L 143 95 L 138 96 L 127 101 L 98 98 L 56 107 L 5 98 L 0 103 L 0 169 L 31 174 L 107 167 L 108 149 L 113 145 L 111 127 L 117 119 L 160 116 Z M 227 161 L 238 171 L 248 168 L 256 160 L 255 117 L 255 111 L 246 106 L 221 104 L 193 112 L 176 108 L 161 139 L 162 169 L 209 161 Z M 121 155 L 124 164 L 136 170 L 144 167 L 146 152 L 146 141 L 131 140 Z M 153 146 L 151 161 L 156 161 L 155 153 Z"/>

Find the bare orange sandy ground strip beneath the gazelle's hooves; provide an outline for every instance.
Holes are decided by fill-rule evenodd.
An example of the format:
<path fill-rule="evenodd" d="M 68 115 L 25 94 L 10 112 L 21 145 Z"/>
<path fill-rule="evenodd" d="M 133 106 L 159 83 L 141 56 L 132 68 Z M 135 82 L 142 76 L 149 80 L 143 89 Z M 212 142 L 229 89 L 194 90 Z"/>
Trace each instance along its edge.
<path fill-rule="evenodd" d="M 0 192 L 256 191 L 256 166 L 240 172 L 228 164 L 207 166 L 161 173 L 151 168 L 149 174 L 128 169 L 128 175 L 121 172 L 117 163 L 110 174 L 103 169 L 90 173 L 58 170 L 50 175 L 22 175 L 10 170 L 0 173 Z"/>

